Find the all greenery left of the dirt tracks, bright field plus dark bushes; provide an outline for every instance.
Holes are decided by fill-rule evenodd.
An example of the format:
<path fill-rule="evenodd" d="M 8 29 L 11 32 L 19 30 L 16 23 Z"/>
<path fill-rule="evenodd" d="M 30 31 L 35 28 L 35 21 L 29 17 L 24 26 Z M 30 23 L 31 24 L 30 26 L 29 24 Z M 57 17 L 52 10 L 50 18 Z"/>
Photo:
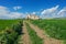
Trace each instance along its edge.
<path fill-rule="evenodd" d="M 18 44 L 22 20 L 0 20 L 0 44 Z"/>

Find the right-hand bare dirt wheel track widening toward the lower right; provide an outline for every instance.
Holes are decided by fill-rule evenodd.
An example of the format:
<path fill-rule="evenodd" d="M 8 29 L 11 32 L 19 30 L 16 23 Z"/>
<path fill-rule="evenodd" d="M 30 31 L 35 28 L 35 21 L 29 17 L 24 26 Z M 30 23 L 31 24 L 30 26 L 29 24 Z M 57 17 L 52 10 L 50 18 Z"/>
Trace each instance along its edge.
<path fill-rule="evenodd" d="M 28 22 L 29 23 L 29 22 Z M 55 40 L 46 35 L 43 30 L 40 30 L 37 26 L 29 23 L 30 26 L 36 32 L 36 34 L 43 38 L 44 44 L 63 44 L 61 40 Z"/>

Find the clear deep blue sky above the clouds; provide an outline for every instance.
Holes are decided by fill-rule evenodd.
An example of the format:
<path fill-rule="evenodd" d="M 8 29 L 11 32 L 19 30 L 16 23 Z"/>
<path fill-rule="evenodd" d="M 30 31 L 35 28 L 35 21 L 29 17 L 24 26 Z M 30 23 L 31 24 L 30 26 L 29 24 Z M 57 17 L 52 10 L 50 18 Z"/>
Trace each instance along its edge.
<path fill-rule="evenodd" d="M 4 7 L 23 7 L 22 12 L 40 11 L 41 9 L 47 9 L 55 6 L 61 8 L 66 7 L 66 0 L 0 0 L 0 6 Z"/>

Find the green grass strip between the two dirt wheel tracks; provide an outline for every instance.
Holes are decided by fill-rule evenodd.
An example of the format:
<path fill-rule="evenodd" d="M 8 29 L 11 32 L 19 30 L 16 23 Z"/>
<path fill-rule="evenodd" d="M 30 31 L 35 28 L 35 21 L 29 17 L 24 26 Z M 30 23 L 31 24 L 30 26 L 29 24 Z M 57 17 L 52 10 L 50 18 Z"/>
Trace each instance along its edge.
<path fill-rule="evenodd" d="M 26 23 L 26 29 L 32 44 L 43 44 L 43 40 L 37 36 L 36 32 L 33 31 L 28 23 Z"/>

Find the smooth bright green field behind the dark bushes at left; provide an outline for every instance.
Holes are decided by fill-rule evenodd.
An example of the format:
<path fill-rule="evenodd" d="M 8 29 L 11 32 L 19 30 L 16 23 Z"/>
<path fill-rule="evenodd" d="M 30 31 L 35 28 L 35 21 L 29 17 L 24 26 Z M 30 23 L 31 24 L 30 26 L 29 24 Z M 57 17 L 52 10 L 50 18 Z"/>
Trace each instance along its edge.
<path fill-rule="evenodd" d="M 4 30 L 7 26 L 11 28 L 12 24 L 18 22 L 19 20 L 0 20 L 0 30 Z"/>

